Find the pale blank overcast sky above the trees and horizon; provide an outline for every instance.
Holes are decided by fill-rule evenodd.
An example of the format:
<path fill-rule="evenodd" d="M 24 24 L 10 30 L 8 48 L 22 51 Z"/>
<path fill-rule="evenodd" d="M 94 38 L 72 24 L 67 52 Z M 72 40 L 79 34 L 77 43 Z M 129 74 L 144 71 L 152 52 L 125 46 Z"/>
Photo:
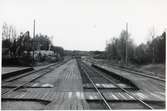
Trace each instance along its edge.
<path fill-rule="evenodd" d="M 136 44 L 150 39 L 149 31 L 167 28 L 167 0 L 0 0 L 0 25 L 14 25 L 53 36 L 53 44 L 71 50 L 104 50 L 128 22 Z M 2 28 L 1 28 L 2 29 Z"/>

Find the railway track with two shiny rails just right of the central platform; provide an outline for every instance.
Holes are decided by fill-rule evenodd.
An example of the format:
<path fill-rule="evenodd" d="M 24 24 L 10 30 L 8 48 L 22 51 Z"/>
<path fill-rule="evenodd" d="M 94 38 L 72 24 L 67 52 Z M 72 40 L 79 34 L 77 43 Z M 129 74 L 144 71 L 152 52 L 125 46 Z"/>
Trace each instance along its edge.
<path fill-rule="evenodd" d="M 150 106 L 149 104 L 147 104 L 142 99 L 140 99 L 139 97 L 135 96 L 133 93 L 131 93 L 130 91 L 126 90 L 125 88 L 122 88 L 119 85 L 117 85 L 113 80 L 111 80 L 107 76 L 105 76 L 105 74 L 102 74 L 102 73 L 98 72 L 97 70 L 95 70 L 94 68 L 88 66 L 87 64 L 83 63 L 80 60 L 78 60 L 78 65 L 79 65 L 81 71 L 83 72 L 83 74 L 86 75 L 86 77 L 88 78 L 90 83 L 93 85 L 93 87 L 96 90 L 96 92 L 98 93 L 98 95 L 100 95 L 101 100 L 103 101 L 103 105 L 105 105 L 105 109 L 109 109 L 109 110 L 113 109 L 112 105 L 111 105 L 112 103 L 108 100 L 108 98 L 106 98 L 106 96 L 104 96 L 104 93 L 101 91 L 101 89 L 97 87 L 97 82 L 93 79 L 92 75 L 100 76 L 101 80 L 108 81 L 108 83 L 113 84 L 115 87 L 119 88 L 121 92 L 126 93 L 127 95 L 132 97 L 135 102 L 137 102 L 138 104 L 142 105 L 144 109 L 153 109 L 152 106 Z"/>

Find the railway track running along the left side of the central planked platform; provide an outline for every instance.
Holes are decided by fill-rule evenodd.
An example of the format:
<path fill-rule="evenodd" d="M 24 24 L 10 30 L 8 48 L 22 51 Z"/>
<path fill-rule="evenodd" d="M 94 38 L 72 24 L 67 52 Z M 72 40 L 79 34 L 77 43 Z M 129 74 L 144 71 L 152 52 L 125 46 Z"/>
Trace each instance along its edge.
<path fill-rule="evenodd" d="M 25 73 L 23 75 L 19 75 L 19 76 L 15 76 L 15 77 L 11 77 L 8 79 L 4 79 L 2 81 L 2 96 L 8 95 L 18 89 L 24 88 L 26 85 L 28 85 L 29 83 L 39 79 L 40 77 L 46 75 L 47 73 L 53 71 L 56 67 L 59 67 L 61 65 L 63 65 L 64 63 L 66 63 L 69 60 L 65 60 L 63 62 L 58 62 L 55 64 L 52 64 L 48 67 L 36 70 L 36 71 L 32 71 L 30 73 Z M 14 86 L 14 84 L 16 84 L 16 86 Z M 10 87 L 8 88 L 8 85 L 13 85 L 14 87 Z M 7 90 L 5 88 L 8 88 Z"/>

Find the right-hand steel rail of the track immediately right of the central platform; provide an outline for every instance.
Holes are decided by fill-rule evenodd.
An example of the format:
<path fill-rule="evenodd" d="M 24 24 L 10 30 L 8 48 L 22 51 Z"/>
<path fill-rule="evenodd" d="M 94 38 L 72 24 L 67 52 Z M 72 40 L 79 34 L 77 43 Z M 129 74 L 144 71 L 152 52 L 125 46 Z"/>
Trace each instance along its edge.
<path fill-rule="evenodd" d="M 85 64 L 86 65 L 86 64 Z M 96 73 L 98 73 L 99 75 L 101 75 L 103 78 L 105 78 L 106 80 L 110 81 L 112 84 L 114 84 L 116 87 L 120 88 L 121 90 L 123 90 L 124 92 L 126 92 L 128 95 L 132 96 L 134 99 L 136 99 L 137 101 L 139 101 L 140 103 L 142 103 L 143 105 L 145 105 L 146 107 L 148 107 L 149 109 L 153 109 L 153 107 L 151 107 L 150 105 L 148 105 L 147 103 L 145 103 L 143 100 L 141 100 L 140 98 L 136 97 L 135 95 L 133 95 L 131 92 L 127 91 L 126 89 L 118 86 L 115 82 L 111 81 L 109 78 L 107 78 L 104 74 L 99 73 L 98 71 L 96 71 L 95 69 L 88 67 L 90 71 L 94 71 Z"/>

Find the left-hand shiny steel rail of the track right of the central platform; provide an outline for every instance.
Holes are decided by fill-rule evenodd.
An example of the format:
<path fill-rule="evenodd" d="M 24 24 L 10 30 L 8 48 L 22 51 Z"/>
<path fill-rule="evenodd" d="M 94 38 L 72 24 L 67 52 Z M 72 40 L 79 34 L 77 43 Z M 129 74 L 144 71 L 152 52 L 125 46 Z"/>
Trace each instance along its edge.
<path fill-rule="evenodd" d="M 78 61 L 79 62 L 79 61 Z M 79 63 L 80 64 L 80 63 Z M 84 74 L 87 76 L 87 78 L 89 79 L 89 81 L 93 84 L 94 88 L 96 89 L 96 91 L 98 92 L 98 94 L 100 95 L 100 97 L 102 98 L 102 100 L 104 101 L 105 105 L 107 106 L 107 108 L 109 110 L 112 110 L 112 108 L 110 107 L 110 105 L 107 103 L 107 100 L 105 99 L 105 97 L 103 96 L 103 94 L 99 91 L 99 89 L 96 87 L 95 83 L 93 82 L 93 80 L 90 78 L 90 76 L 88 75 L 88 72 L 83 68 L 83 66 L 81 66 L 81 69 L 84 71 Z"/>

